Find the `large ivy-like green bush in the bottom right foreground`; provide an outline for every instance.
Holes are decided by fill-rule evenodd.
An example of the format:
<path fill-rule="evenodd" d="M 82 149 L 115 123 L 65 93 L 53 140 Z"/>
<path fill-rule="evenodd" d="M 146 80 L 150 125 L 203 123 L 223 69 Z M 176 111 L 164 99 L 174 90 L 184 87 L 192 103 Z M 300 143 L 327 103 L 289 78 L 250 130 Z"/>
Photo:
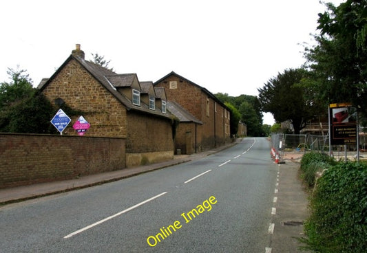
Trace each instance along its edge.
<path fill-rule="evenodd" d="M 304 230 L 308 250 L 366 252 L 367 165 L 340 163 L 324 172 L 310 202 Z"/>

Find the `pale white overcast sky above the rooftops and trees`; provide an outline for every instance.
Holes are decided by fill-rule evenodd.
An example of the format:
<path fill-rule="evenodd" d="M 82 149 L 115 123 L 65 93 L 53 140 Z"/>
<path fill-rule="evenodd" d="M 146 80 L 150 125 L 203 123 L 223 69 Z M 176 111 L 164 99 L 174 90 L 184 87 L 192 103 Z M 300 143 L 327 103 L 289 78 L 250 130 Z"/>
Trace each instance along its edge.
<path fill-rule="evenodd" d="M 213 94 L 258 96 L 304 63 L 302 44 L 313 43 L 324 10 L 319 0 L 0 1 L 0 82 L 19 65 L 36 86 L 79 43 L 86 59 L 98 53 L 140 81 L 174 71 Z"/>

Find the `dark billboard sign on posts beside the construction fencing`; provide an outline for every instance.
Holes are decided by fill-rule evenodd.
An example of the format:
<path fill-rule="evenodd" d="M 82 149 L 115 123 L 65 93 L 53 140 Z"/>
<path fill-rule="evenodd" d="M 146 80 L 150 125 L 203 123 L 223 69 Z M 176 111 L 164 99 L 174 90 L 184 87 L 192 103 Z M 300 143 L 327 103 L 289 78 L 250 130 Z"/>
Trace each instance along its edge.
<path fill-rule="evenodd" d="M 357 144 L 357 111 L 349 103 L 330 104 L 331 145 Z"/>

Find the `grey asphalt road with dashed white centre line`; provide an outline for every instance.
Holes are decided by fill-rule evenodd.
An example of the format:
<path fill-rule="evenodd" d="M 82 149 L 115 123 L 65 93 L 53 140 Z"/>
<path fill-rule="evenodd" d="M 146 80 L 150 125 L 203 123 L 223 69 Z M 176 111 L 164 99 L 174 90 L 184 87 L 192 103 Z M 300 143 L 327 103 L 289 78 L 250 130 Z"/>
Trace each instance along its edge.
<path fill-rule="evenodd" d="M 277 165 L 265 138 L 0 208 L 0 252 L 266 252 Z"/>

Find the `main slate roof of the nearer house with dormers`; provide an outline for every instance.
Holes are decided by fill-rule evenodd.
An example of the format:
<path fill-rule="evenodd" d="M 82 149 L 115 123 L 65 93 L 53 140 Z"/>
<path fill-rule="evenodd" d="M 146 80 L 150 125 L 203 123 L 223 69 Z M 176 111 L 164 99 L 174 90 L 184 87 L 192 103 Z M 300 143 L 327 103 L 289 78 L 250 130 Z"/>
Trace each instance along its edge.
<path fill-rule="evenodd" d="M 120 94 L 116 87 L 123 87 L 123 85 L 127 85 L 130 81 L 134 80 L 132 77 L 135 77 L 136 74 L 116 74 L 115 72 L 112 72 L 109 69 L 105 69 L 104 67 L 101 67 L 100 65 L 97 65 L 95 63 L 92 63 L 90 61 L 85 61 L 84 58 L 81 58 L 79 56 L 70 55 L 69 58 L 59 67 L 59 69 L 56 70 L 56 72 L 45 82 L 41 82 L 39 85 L 40 91 L 45 89 L 45 87 L 48 86 L 48 84 L 54 79 L 54 77 L 59 74 L 61 69 L 67 65 L 72 59 L 80 63 L 86 70 L 89 72 L 96 80 L 98 80 L 105 89 L 107 89 L 118 101 L 121 102 L 127 109 L 127 111 L 133 110 L 133 111 L 140 111 L 142 113 L 148 113 L 157 115 L 163 118 L 169 118 L 171 119 L 171 113 L 162 113 L 160 109 L 156 108 L 156 110 L 149 109 L 149 106 L 142 101 L 140 101 L 140 106 L 136 106 L 132 104 L 132 101 L 123 96 L 123 94 Z M 116 85 L 116 87 L 114 86 Z M 131 85 L 131 83 L 130 83 Z"/>

